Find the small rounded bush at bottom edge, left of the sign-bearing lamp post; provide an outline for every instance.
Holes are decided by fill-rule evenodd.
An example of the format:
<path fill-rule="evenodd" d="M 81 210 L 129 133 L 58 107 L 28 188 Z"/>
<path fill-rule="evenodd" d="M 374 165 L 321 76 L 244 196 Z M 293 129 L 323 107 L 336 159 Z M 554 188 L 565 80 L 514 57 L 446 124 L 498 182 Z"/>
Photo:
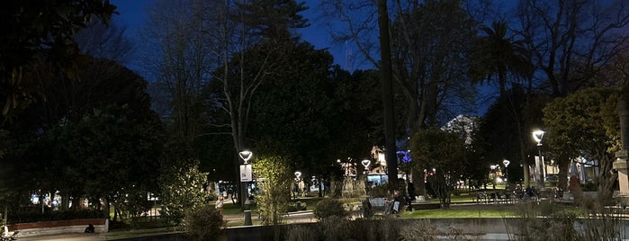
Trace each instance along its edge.
<path fill-rule="evenodd" d="M 216 240 L 226 222 L 211 205 L 189 211 L 184 219 L 185 233 L 191 240 Z"/>

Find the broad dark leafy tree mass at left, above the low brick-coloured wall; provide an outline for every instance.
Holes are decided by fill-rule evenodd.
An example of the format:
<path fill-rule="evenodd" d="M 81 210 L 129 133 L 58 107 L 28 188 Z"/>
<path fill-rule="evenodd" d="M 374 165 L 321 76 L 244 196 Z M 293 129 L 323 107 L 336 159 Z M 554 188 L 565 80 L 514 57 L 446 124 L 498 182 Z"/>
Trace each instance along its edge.
<path fill-rule="evenodd" d="M 156 186 L 147 180 L 156 179 L 148 170 L 155 169 L 151 164 L 161 149 L 161 123 L 149 109 L 146 82 L 108 60 L 90 59 L 79 69 L 76 79 L 58 76 L 56 83 L 43 85 L 47 100 L 16 116 L 19 125 L 4 126 L 23 144 L 13 146 L 13 155 L 2 159 L 14 172 L 3 174 L 3 190 L 12 192 L 4 186 L 12 178 L 31 177 L 13 189 L 59 191 L 66 208 L 70 198 L 88 193 L 111 198 L 114 189 L 155 192 Z M 29 161 L 19 161 L 24 159 Z M 131 167 L 119 171 L 121 166 Z M 98 173 L 103 171 L 108 173 Z M 90 179 L 89 174 L 106 178 Z"/>

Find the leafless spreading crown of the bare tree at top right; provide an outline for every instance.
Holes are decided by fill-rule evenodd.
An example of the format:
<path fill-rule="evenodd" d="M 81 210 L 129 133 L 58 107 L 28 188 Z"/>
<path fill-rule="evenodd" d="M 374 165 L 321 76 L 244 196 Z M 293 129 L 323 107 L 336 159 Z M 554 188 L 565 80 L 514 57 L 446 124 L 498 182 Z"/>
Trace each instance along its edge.
<path fill-rule="evenodd" d="M 622 1 L 519 2 L 519 34 L 553 96 L 591 86 L 598 71 L 623 52 L 627 7 Z"/>

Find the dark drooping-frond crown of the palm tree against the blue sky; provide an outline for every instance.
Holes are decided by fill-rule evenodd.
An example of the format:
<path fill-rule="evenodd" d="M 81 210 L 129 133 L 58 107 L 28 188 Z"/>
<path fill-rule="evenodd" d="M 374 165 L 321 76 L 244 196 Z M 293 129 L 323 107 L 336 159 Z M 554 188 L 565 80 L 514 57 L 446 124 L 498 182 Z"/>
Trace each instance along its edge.
<path fill-rule="evenodd" d="M 482 82 L 498 75 L 500 95 L 507 92 L 507 74 L 530 77 L 533 75 L 533 64 L 526 57 L 526 49 L 519 41 L 508 38 L 507 22 L 499 21 L 491 24 L 492 28 L 481 27 L 486 36 L 474 41 L 470 76 Z"/>

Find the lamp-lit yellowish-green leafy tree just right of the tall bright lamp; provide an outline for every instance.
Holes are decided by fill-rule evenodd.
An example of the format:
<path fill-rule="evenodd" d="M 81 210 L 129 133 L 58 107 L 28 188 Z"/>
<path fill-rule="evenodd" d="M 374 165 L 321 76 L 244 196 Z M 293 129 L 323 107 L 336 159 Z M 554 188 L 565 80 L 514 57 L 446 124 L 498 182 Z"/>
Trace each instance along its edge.
<path fill-rule="evenodd" d="M 544 108 L 544 135 L 551 157 L 559 168 L 560 181 L 568 175 L 573 159 L 582 156 L 594 161 L 600 172 L 598 198 L 601 203 L 613 200 L 614 183 L 612 163 L 614 153 L 620 149 L 620 134 L 613 89 L 588 88 L 564 98 L 557 98 Z"/>

